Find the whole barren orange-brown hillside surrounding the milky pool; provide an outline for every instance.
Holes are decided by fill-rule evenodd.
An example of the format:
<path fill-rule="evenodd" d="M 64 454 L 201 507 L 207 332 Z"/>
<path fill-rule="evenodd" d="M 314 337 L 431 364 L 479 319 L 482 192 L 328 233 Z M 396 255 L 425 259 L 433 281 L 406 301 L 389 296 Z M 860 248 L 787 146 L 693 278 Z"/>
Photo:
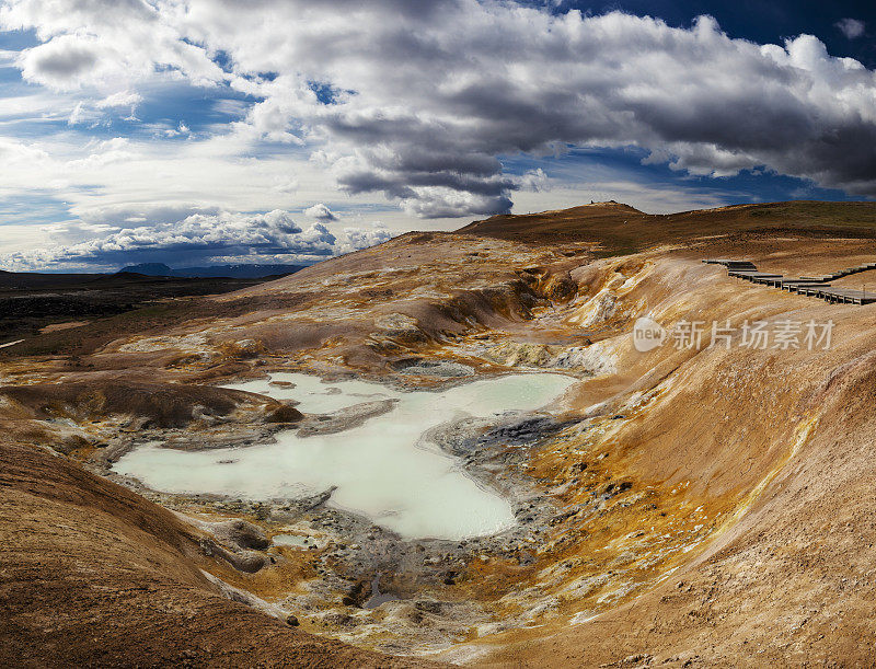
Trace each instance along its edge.
<path fill-rule="evenodd" d="M 0 657 L 867 664 L 876 307 L 701 261 L 794 276 L 876 262 L 874 218 L 866 203 L 494 217 L 0 349 Z M 855 276 L 876 289 L 876 270 Z M 648 351 L 642 316 L 670 333 Z M 693 322 L 700 345 L 676 341 Z M 746 343 L 754 322 L 773 337 L 797 323 L 796 342 Z M 713 342 L 713 323 L 728 336 Z M 806 341 L 810 323 L 832 323 L 829 345 Z M 495 538 L 406 541 L 326 506 L 331 491 L 256 504 L 114 471 L 145 443 L 244 457 L 281 430 L 343 432 L 387 411 L 315 415 L 295 388 L 217 388 L 285 371 L 401 390 L 533 371 L 574 383 L 549 415 L 436 435 L 514 500 L 517 527 Z M 314 547 L 272 542 L 290 527 Z M 392 601 L 366 605 L 380 591 Z"/>

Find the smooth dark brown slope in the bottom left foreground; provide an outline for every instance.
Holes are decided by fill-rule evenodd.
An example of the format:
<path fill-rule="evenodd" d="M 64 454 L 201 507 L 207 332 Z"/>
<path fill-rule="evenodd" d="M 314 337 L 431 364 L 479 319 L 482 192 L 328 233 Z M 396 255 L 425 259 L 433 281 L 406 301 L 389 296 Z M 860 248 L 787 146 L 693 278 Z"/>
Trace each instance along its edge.
<path fill-rule="evenodd" d="M 0 665 L 423 665 L 315 637 L 232 601 L 201 572 L 215 569 L 203 532 L 35 446 L 46 439 L 38 432 L 4 427 Z"/>

